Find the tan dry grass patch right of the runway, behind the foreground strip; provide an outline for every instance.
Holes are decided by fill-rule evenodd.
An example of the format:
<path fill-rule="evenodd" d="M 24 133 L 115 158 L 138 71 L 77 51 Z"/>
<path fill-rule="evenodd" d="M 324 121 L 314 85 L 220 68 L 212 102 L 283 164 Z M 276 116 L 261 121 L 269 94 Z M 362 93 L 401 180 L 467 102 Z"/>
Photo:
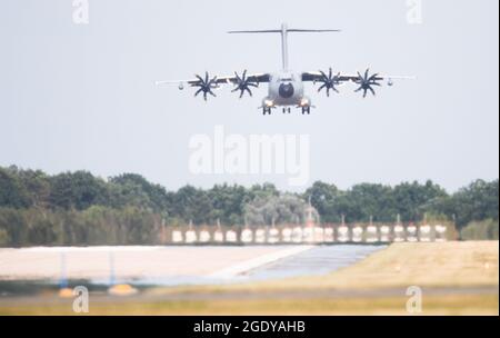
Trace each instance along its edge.
<path fill-rule="evenodd" d="M 327 277 L 262 284 L 270 288 L 374 289 L 483 287 L 499 284 L 499 242 L 394 243 Z"/>

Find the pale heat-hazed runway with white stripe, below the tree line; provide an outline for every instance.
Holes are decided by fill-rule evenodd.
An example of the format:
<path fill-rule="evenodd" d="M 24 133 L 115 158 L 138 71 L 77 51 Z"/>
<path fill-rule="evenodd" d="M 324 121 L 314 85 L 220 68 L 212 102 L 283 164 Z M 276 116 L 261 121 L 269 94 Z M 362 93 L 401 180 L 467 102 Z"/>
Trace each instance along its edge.
<path fill-rule="evenodd" d="M 377 246 L 40 247 L 0 249 L 0 280 L 179 286 L 328 274 Z"/>

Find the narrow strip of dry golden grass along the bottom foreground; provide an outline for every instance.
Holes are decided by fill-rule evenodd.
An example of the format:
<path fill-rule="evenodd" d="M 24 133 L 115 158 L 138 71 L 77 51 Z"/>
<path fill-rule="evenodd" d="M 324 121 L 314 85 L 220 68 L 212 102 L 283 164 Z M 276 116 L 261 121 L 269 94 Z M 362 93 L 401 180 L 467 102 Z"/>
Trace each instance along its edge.
<path fill-rule="evenodd" d="M 396 315 L 407 316 L 407 298 L 254 299 L 91 304 L 88 315 Z M 498 297 L 488 295 L 429 296 L 420 315 L 497 315 Z M 0 315 L 71 316 L 71 305 L 0 306 Z M 81 316 L 81 315 L 78 315 Z"/>

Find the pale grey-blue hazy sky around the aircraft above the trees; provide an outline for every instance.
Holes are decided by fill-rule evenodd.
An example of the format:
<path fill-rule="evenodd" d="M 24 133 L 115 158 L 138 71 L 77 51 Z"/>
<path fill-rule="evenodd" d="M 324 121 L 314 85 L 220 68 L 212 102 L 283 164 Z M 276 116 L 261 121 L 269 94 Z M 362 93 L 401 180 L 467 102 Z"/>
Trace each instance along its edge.
<path fill-rule="evenodd" d="M 272 181 L 274 176 L 193 176 L 194 133 L 310 135 L 311 182 L 432 179 L 450 191 L 499 172 L 499 53 L 496 0 L 422 0 L 422 24 L 404 0 L 89 0 L 74 24 L 71 0 L 4 0 L 0 10 L 0 166 L 50 173 L 137 172 L 168 189 L 186 183 Z M 258 89 L 229 89 L 204 103 L 158 79 L 210 70 L 280 68 L 279 36 L 231 29 L 338 28 L 290 38 L 293 70 L 414 74 L 362 100 L 352 88 L 326 98 L 308 86 L 311 116 L 263 117 Z M 293 190 L 293 189 L 292 189 Z M 300 189 L 299 189 L 300 190 Z"/>

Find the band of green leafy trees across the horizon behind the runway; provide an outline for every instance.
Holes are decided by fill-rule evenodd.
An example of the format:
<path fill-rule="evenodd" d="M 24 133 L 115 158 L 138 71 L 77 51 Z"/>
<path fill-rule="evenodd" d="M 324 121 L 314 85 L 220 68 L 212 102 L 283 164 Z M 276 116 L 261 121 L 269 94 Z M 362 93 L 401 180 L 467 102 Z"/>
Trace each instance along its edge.
<path fill-rule="evenodd" d="M 318 181 L 303 193 L 271 183 L 168 191 L 136 173 L 103 179 L 0 167 L 0 246 L 156 243 L 162 227 L 176 225 L 302 223 L 309 200 L 321 222 L 393 222 L 399 215 L 401 221 L 454 220 L 460 230 L 473 221 L 498 223 L 498 179 L 454 193 L 432 181 L 347 190 Z"/>

